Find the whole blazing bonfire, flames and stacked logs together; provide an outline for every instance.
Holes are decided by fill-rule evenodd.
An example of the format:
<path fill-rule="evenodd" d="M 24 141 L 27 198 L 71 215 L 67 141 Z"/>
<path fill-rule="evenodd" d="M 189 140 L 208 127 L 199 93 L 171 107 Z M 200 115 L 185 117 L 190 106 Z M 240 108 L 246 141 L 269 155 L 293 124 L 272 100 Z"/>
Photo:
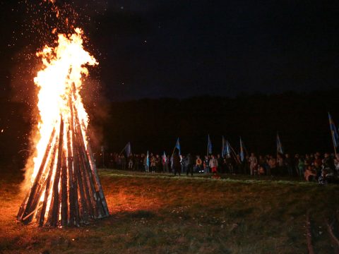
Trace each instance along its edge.
<path fill-rule="evenodd" d="M 83 49 L 81 34 L 77 29 L 70 37 L 59 35 L 58 47 L 38 54 L 44 63 L 35 78 L 40 140 L 32 185 L 18 212 L 24 224 L 79 226 L 109 216 L 79 94 L 81 78 L 88 75 L 84 65 L 97 62 Z"/>

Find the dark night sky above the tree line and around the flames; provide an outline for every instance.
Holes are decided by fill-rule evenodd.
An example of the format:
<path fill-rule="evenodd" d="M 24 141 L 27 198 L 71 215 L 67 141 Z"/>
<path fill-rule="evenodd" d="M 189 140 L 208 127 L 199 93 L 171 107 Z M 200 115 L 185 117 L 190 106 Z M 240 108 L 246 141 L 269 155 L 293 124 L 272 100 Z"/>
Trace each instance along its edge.
<path fill-rule="evenodd" d="M 29 95 L 38 63 L 31 56 L 55 36 L 53 20 L 33 22 L 48 8 L 39 2 L 0 1 L 3 95 Z M 112 101 L 338 84 L 336 1 L 57 0 L 65 2 L 100 62 L 91 78 Z"/>

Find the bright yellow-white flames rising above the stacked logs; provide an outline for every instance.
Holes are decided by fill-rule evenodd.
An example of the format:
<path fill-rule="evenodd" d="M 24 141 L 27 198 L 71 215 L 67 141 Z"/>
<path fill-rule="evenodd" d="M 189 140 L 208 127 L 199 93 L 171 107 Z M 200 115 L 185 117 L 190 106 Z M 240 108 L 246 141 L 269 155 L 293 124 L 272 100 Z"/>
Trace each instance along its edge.
<path fill-rule="evenodd" d="M 60 34 L 57 47 L 45 46 L 42 52 L 37 53 L 37 56 L 42 57 L 43 67 L 34 79 L 35 85 L 39 87 L 37 106 L 40 111 L 40 122 L 39 139 L 36 144 L 37 156 L 33 159 L 34 170 L 31 182 L 37 175 L 46 147 L 51 145 L 49 138 L 52 130 L 55 129 L 59 133 L 61 116 L 66 126 L 71 119 L 69 99 L 78 111 L 80 123 L 83 123 L 81 130 L 85 134 L 88 114 L 83 107 L 79 92 L 83 77 L 88 75 L 85 65 L 95 66 L 97 61 L 83 49 L 82 35 L 83 31 L 80 28 L 76 28 L 73 35 Z M 66 131 L 67 128 L 64 128 L 65 138 Z M 67 150 L 66 145 L 64 149 Z"/>

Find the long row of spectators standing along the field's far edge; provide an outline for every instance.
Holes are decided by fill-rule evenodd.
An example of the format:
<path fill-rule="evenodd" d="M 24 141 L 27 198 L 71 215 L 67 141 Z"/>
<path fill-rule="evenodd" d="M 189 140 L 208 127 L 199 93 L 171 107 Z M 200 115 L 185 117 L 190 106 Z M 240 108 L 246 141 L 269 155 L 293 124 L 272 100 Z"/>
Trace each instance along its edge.
<path fill-rule="evenodd" d="M 150 153 L 110 153 L 106 167 L 150 173 L 186 174 L 250 174 L 267 176 L 296 176 L 319 183 L 335 182 L 339 172 L 339 155 L 319 152 L 307 155 L 200 155 L 186 156 L 174 152 L 172 156 Z"/>

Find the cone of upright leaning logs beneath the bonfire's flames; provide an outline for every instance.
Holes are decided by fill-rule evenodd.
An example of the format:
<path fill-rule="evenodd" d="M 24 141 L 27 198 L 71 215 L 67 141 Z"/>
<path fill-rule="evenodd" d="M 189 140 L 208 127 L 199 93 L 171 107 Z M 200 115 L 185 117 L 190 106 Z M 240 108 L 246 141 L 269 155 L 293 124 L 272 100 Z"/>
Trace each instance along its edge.
<path fill-rule="evenodd" d="M 69 117 L 54 127 L 17 219 L 40 226 L 79 226 L 109 216 L 85 124 L 69 97 Z M 58 129 L 58 130 L 57 130 Z"/>

